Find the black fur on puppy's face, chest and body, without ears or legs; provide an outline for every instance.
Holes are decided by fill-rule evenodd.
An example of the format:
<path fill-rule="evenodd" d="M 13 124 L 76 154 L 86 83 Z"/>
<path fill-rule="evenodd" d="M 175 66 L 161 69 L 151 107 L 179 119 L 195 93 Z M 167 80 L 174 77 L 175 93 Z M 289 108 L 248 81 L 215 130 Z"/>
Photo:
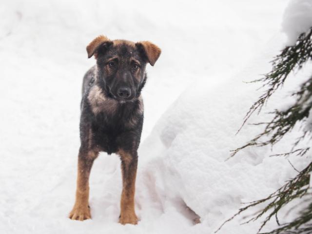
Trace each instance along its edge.
<path fill-rule="evenodd" d="M 127 44 L 116 47 L 111 45 L 105 50 L 102 48 L 98 53 L 97 65 L 85 74 L 81 100 L 80 150 L 88 151 L 95 148 L 98 151 L 112 154 L 123 149 L 136 155 L 143 125 L 143 111 L 139 110 L 141 107 L 138 98 L 147 79 L 145 73 L 147 61 L 143 54 L 140 56 L 140 53 L 141 51 L 136 47 L 129 47 Z M 107 75 L 104 67 L 107 65 L 107 59 L 113 56 L 117 56 L 119 66 L 116 72 Z M 129 72 L 131 58 L 140 62 L 140 79 L 132 76 L 131 71 Z M 118 73 L 119 76 L 128 76 L 127 79 L 119 77 L 118 80 Z M 115 100 L 116 94 L 112 93 L 116 93 L 119 86 L 125 85 L 132 86 L 131 89 L 135 95 L 130 101 L 116 98 L 117 108 L 113 114 L 105 112 L 95 114 L 88 99 L 90 90 L 95 85 L 101 88 L 105 98 Z M 135 124 L 128 124 L 129 119 L 135 119 Z"/>

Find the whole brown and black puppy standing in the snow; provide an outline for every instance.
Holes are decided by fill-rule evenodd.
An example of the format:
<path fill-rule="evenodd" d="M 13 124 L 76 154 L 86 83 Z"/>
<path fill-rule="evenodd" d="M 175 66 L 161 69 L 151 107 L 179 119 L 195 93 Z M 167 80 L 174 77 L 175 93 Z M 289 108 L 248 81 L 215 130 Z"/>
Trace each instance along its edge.
<path fill-rule="evenodd" d="M 137 224 L 134 207 L 137 148 L 143 124 L 141 90 L 146 81 L 145 67 L 152 66 L 160 49 L 149 41 L 110 40 L 99 36 L 87 46 L 88 58 L 97 65 L 83 78 L 80 149 L 76 202 L 69 217 L 91 218 L 89 175 L 100 151 L 117 153 L 121 159 L 121 224 Z"/>

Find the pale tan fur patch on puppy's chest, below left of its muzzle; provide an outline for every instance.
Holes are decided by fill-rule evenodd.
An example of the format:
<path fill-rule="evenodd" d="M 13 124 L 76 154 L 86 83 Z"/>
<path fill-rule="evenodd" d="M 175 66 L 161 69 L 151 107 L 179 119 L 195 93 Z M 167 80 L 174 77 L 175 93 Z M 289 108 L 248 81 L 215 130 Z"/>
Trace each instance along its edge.
<path fill-rule="evenodd" d="M 112 114 L 115 112 L 118 102 L 111 98 L 105 98 L 101 88 L 95 85 L 91 88 L 88 100 L 94 114 L 105 112 Z"/>

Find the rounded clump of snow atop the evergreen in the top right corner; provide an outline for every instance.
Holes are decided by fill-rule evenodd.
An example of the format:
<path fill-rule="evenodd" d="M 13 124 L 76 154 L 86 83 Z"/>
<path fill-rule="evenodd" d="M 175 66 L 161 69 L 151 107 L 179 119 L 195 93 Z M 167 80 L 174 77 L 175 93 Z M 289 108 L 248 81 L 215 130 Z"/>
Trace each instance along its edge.
<path fill-rule="evenodd" d="M 282 30 L 288 37 L 287 45 L 293 45 L 302 33 L 312 27 L 312 1 L 291 0 L 282 23 Z"/>

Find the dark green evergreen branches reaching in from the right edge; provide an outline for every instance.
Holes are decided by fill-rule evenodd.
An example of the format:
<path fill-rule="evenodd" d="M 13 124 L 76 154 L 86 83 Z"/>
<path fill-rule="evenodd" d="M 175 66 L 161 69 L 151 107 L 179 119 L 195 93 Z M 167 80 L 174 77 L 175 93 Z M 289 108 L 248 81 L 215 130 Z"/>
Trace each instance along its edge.
<path fill-rule="evenodd" d="M 295 45 L 286 47 L 278 56 L 273 59 L 273 68 L 271 72 L 269 72 L 267 75 L 264 75 L 263 78 L 252 81 L 261 81 L 264 83 L 262 87 L 265 86 L 268 87 L 268 89 L 250 107 L 249 111 L 244 117 L 243 124 L 239 128 L 238 132 L 244 126 L 249 117 L 254 114 L 255 111 L 258 111 L 258 113 L 260 113 L 262 107 L 266 104 L 272 94 L 284 84 L 289 74 L 292 71 L 301 69 L 304 63 L 309 60 L 312 60 L 312 28 L 307 33 L 301 34 L 298 37 Z M 292 131 L 295 124 L 300 123 L 302 126 L 302 124 L 308 119 L 310 111 L 312 109 L 312 77 L 305 81 L 303 84 L 301 84 L 299 89 L 296 92 L 292 93 L 292 96 L 296 98 L 295 103 L 292 106 L 288 107 L 286 110 L 283 111 L 274 110 L 271 113 L 274 115 L 273 119 L 269 122 L 260 122 L 254 124 L 265 125 L 263 132 L 258 134 L 245 145 L 235 150 L 232 150 L 232 154 L 230 157 L 234 156 L 236 153 L 246 147 L 261 147 L 266 145 L 273 146 L 275 143 L 280 141 L 285 136 L 285 134 Z M 297 138 L 296 141 L 293 143 L 291 152 L 276 154 L 273 156 L 289 156 L 292 154 L 296 154 L 297 156 L 304 156 L 310 150 L 310 147 L 295 150 L 294 148 L 298 145 L 300 141 L 304 139 L 304 137 L 306 137 L 307 134 L 311 133 L 311 131 L 311 128 L 303 129 L 302 136 Z M 268 139 L 266 138 L 264 141 L 262 141 L 263 137 L 268 137 Z M 303 196 L 306 197 L 307 195 L 312 195 L 311 193 L 308 193 L 310 188 L 310 174 L 312 173 L 312 162 L 310 162 L 310 164 L 301 171 L 298 171 L 296 168 L 294 168 L 291 162 L 290 164 L 292 168 L 298 172 L 297 176 L 287 181 L 284 186 L 282 186 L 271 195 L 268 195 L 266 198 L 249 203 L 244 203 L 247 205 L 240 208 L 236 214 L 234 214 L 231 218 L 227 219 L 215 232 L 219 231 L 225 223 L 232 220 L 235 216 L 240 215 L 246 210 L 263 203 L 266 204 L 265 208 L 259 210 L 253 215 L 250 215 L 251 218 L 245 222 L 249 223 L 251 221 L 255 221 L 258 218 L 267 214 L 258 230 L 258 234 L 267 224 L 267 222 L 272 219 L 272 217 L 275 217 L 275 221 L 279 227 L 265 234 L 312 234 L 312 203 L 309 203 L 308 206 L 300 212 L 300 215 L 292 222 L 281 224 L 277 216 L 279 211 L 287 204 L 289 204 L 292 200 L 302 198 Z M 304 204 L 306 204 L 307 202 L 307 200 L 304 200 Z M 289 212 L 292 211 L 293 208 L 290 209 Z"/>

